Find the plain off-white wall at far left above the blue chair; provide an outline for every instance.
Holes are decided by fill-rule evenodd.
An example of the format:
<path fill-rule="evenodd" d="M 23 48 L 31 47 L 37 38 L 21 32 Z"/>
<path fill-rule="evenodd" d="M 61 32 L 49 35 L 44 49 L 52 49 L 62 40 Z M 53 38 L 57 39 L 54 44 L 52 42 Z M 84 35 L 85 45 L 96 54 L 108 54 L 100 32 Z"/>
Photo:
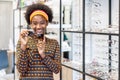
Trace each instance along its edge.
<path fill-rule="evenodd" d="M 8 49 L 13 38 L 12 12 L 12 0 L 0 0 L 0 49 Z"/>

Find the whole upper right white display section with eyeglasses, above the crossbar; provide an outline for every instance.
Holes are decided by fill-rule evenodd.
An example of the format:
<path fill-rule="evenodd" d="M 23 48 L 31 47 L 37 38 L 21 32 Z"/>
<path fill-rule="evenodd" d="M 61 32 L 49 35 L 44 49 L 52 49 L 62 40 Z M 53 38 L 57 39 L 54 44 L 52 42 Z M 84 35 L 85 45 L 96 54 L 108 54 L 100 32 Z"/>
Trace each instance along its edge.
<path fill-rule="evenodd" d="M 86 0 L 85 29 L 88 32 L 118 33 L 119 0 Z M 110 11 L 111 10 L 111 15 Z"/>

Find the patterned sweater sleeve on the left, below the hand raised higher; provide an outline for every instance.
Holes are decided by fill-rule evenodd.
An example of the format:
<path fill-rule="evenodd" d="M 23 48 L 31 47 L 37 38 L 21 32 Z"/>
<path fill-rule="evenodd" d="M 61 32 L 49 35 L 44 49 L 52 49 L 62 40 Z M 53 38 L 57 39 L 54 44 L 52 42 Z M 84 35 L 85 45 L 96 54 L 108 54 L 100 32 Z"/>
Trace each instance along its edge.
<path fill-rule="evenodd" d="M 28 67 L 28 51 L 23 51 L 20 48 L 20 41 L 18 41 L 16 48 L 16 67 L 19 73 L 25 73 Z"/>

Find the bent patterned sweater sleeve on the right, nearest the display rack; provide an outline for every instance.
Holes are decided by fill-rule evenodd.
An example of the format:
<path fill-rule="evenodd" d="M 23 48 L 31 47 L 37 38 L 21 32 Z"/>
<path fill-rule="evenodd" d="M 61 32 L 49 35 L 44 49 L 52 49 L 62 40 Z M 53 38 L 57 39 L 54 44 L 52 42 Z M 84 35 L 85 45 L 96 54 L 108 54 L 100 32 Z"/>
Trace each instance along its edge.
<path fill-rule="evenodd" d="M 56 43 L 56 47 L 55 47 L 55 53 L 54 53 L 54 59 L 52 59 L 50 56 L 45 56 L 45 58 L 42 60 L 42 62 L 55 74 L 57 74 L 60 69 L 61 69 L 61 65 L 60 65 L 60 47 L 58 42 Z"/>

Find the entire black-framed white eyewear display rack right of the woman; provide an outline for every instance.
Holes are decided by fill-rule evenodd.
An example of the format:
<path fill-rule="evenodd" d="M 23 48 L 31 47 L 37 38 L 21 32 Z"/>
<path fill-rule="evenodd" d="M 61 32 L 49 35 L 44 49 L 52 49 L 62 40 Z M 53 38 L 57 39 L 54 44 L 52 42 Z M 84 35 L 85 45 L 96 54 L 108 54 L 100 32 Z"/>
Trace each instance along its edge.
<path fill-rule="evenodd" d="M 60 0 L 60 44 L 62 80 L 120 80 L 120 1 Z"/>

